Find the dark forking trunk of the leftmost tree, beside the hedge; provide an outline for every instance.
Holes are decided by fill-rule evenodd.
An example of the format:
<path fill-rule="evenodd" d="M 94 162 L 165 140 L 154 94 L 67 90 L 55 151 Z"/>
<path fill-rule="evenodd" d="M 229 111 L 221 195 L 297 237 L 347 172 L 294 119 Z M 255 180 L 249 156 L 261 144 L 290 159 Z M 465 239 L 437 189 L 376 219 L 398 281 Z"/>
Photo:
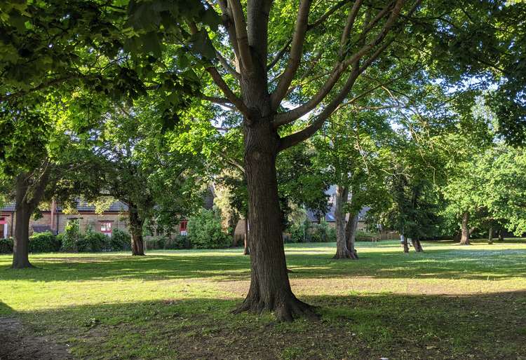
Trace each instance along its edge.
<path fill-rule="evenodd" d="M 36 171 L 35 171 L 36 172 Z M 16 180 L 15 239 L 13 242 L 13 269 L 33 268 L 29 263 L 29 220 L 42 200 L 48 184 L 49 169 L 46 167 L 38 179 L 30 179 L 22 173 Z M 38 176 L 38 175 L 33 175 Z M 31 188 L 31 191 L 29 191 Z"/>

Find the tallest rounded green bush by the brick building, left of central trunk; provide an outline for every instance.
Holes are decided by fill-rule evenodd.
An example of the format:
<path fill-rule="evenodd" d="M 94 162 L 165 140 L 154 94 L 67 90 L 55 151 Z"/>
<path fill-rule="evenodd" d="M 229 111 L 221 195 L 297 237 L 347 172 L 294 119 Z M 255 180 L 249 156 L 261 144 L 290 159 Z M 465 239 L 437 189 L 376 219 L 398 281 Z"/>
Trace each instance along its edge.
<path fill-rule="evenodd" d="M 223 233 L 221 219 L 211 210 L 201 209 L 188 220 L 188 236 L 196 249 L 219 249 L 229 247 L 232 239 Z"/>

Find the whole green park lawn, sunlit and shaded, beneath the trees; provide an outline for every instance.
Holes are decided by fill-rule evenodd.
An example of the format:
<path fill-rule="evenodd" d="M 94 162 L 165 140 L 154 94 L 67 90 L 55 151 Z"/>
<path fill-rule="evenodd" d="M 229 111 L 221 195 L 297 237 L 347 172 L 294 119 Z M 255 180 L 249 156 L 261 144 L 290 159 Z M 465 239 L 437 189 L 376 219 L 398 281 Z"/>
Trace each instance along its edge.
<path fill-rule="evenodd" d="M 0 256 L 0 322 L 90 359 L 526 359 L 526 241 L 287 244 L 296 295 L 321 319 L 231 314 L 250 284 L 241 249 Z"/>

